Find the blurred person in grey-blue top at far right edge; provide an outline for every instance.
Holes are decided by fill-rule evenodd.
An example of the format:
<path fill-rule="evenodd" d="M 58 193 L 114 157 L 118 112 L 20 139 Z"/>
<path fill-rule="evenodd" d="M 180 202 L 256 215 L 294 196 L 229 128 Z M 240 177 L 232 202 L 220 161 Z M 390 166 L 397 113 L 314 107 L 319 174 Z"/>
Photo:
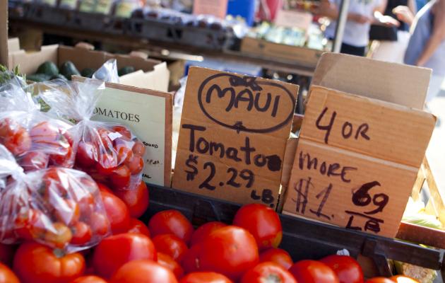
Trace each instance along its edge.
<path fill-rule="evenodd" d="M 439 94 L 445 78 L 445 0 L 429 2 L 415 16 L 405 64 L 432 69 L 427 102 Z"/>

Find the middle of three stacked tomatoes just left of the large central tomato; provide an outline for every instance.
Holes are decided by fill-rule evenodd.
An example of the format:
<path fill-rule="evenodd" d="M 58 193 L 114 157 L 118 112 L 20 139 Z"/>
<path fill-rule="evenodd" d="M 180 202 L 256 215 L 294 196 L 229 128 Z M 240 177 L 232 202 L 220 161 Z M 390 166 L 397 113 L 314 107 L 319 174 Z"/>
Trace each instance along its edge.
<path fill-rule="evenodd" d="M 153 244 L 160 253 L 170 255 L 173 260 L 182 261 L 188 250 L 186 243 L 173 234 L 162 234 L 153 238 Z"/>

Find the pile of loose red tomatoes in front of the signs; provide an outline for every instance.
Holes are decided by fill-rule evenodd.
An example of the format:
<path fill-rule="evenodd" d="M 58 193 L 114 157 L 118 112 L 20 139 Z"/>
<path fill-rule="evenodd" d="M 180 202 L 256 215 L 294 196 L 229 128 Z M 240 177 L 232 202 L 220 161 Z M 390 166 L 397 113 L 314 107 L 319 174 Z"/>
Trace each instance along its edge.
<path fill-rule="evenodd" d="M 109 188 L 100 190 L 112 198 Z M 345 255 L 292 262 L 278 248 L 283 236 L 278 214 L 262 204 L 239 209 L 232 225 L 209 222 L 196 230 L 177 210 L 158 212 L 147 225 L 127 216 L 111 217 L 119 232 L 81 253 L 61 254 L 32 241 L 18 248 L 0 246 L 0 282 L 416 282 L 408 277 L 365 281 L 360 265 Z"/>

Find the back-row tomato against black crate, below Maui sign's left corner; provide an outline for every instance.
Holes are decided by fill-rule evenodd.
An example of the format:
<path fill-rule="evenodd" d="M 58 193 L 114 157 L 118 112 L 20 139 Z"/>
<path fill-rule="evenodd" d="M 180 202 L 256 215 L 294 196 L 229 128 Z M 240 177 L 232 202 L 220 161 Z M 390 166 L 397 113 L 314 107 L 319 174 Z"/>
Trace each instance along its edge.
<path fill-rule="evenodd" d="M 148 229 L 150 229 L 153 237 L 162 234 L 174 234 L 186 243 L 190 242 L 191 234 L 194 231 L 189 219 L 186 219 L 181 212 L 174 209 L 153 215 L 148 222 Z"/>

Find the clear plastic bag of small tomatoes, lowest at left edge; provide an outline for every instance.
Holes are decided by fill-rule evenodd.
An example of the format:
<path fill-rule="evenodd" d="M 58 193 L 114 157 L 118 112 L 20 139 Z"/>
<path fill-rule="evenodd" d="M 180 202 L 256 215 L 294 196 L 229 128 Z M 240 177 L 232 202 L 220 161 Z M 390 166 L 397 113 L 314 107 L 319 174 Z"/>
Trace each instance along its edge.
<path fill-rule="evenodd" d="M 0 145 L 0 242 L 36 241 L 74 252 L 111 233 L 100 190 L 87 174 L 69 168 L 24 173 Z"/>

